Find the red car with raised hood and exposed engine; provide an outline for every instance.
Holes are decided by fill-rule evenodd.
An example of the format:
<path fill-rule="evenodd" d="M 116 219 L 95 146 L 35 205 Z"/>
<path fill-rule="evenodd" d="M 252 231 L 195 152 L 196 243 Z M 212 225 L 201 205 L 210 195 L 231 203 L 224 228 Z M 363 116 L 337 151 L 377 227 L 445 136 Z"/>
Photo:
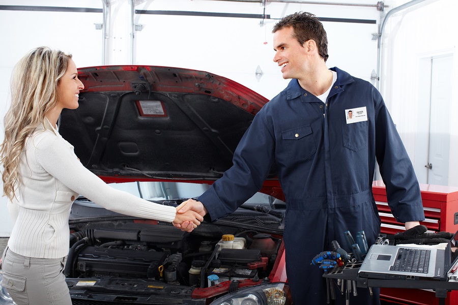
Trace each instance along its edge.
<path fill-rule="evenodd" d="M 105 66 L 78 73 L 79 108 L 62 112 L 60 133 L 104 181 L 159 204 L 196 198 L 221 177 L 268 102 L 203 71 Z M 233 214 L 191 233 L 79 197 L 64 270 L 73 304 L 291 304 L 286 206 L 275 172 Z"/>

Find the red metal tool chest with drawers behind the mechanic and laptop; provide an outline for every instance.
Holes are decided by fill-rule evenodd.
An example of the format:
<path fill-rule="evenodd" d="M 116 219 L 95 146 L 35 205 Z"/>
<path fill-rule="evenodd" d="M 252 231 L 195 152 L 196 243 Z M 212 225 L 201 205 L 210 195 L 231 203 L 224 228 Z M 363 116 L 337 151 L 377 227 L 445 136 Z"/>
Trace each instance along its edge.
<path fill-rule="evenodd" d="M 405 230 L 404 224 L 396 222 L 388 207 L 385 185 L 377 180 L 373 183 L 374 198 L 382 219 L 381 232 L 394 234 Z M 430 231 L 458 230 L 458 187 L 420 184 L 425 225 Z M 380 298 L 397 304 L 434 305 L 439 298 L 433 290 L 381 288 Z M 447 292 L 446 305 L 458 305 L 458 290 Z"/>

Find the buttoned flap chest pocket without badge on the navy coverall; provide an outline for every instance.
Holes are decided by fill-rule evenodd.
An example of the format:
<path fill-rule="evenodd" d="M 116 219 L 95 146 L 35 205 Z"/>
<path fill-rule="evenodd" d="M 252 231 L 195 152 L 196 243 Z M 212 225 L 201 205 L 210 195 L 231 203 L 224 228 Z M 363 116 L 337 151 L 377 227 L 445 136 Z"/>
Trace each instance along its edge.
<path fill-rule="evenodd" d="M 281 138 L 291 159 L 306 160 L 317 151 L 310 125 L 284 130 Z"/>

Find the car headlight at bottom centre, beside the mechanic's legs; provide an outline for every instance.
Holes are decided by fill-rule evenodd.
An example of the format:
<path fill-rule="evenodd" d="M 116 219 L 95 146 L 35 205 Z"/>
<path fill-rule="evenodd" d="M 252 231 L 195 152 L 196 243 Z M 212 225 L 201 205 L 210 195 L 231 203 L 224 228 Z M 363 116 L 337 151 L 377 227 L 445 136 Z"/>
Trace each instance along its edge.
<path fill-rule="evenodd" d="M 291 305 L 288 284 L 272 283 L 241 289 L 218 298 L 210 305 Z"/>

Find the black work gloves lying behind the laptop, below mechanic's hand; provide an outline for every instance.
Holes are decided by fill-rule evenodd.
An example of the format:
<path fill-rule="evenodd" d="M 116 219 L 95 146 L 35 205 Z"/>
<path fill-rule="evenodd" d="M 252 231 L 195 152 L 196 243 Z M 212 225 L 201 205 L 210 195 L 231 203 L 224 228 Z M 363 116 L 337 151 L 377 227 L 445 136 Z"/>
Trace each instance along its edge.
<path fill-rule="evenodd" d="M 437 245 L 449 242 L 453 234 L 449 232 L 426 233 L 426 226 L 418 225 L 405 232 L 394 234 L 396 243 L 415 243 L 416 245 Z"/>

